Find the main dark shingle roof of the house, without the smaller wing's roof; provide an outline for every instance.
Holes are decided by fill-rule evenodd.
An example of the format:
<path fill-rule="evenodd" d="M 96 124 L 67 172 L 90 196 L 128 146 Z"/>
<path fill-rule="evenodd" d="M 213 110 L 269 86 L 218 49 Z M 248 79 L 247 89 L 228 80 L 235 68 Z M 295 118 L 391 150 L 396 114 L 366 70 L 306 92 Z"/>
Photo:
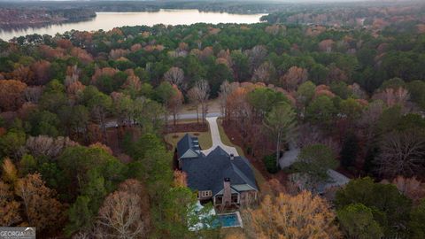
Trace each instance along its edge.
<path fill-rule="evenodd" d="M 229 178 L 231 185 L 248 184 L 258 190 L 248 160 L 239 156 L 231 160 L 220 147 L 207 156 L 201 153 L 198 158 L 182 158 L 182 170 L 187 173 L 190 189 L 212 190 L 215 195 L 223 189 L 224 178 Z"/>

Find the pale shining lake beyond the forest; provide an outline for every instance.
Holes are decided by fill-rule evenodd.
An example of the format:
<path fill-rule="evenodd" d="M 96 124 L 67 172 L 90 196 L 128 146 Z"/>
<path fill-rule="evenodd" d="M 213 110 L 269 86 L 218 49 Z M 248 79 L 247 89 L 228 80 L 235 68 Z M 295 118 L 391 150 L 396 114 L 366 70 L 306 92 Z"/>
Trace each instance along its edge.
<path fill-rule="evenodd" d="M 231 14 L 226 12 L 199 12 L 197 10 L 164 10 L 159 12 L 97 12 L 97 17 L 81 22 L 52 24 L 46 27 L 30 27 L 19 30 L 0 30 L 0 38 L 4 41 L 21 35 L 56 35 L 70 30 L 94 31 L 104 29 L 111 30 L 113 27 L 153 26 L 165 25 L 189 25 L 198 22 L 204 23 L 256 23 L 265 14 Z"/>

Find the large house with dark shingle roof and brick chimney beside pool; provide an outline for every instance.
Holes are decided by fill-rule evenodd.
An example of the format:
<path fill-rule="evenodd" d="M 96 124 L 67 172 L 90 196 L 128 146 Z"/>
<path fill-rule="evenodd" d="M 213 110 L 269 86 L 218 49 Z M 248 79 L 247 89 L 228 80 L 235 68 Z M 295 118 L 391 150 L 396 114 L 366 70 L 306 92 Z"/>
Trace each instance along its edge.
<path fill-rule="evenodd" d="M 205 155 L 197 137 L 188 134 L 177 143 L 175 158 L 179 169 L 186 173 L 189 189 L 197 191 L 199 201 L 238 207 L 257 199 L 259 189 L 246 158 L 229 155 L 220 146 Z"/>

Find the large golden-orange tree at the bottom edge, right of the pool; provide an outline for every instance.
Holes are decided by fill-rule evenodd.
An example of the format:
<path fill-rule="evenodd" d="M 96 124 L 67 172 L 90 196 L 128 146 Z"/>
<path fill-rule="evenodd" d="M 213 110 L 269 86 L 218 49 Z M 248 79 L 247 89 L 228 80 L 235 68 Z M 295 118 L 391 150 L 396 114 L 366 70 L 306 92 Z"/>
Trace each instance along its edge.
<path fill-rule="evenodd" d="M 268 238 L 341 238 L 335 212 L 321 197 L 303 191 L 296 196 L 267 195 L 258 209 L 243 211 L 248 237 Z"/>

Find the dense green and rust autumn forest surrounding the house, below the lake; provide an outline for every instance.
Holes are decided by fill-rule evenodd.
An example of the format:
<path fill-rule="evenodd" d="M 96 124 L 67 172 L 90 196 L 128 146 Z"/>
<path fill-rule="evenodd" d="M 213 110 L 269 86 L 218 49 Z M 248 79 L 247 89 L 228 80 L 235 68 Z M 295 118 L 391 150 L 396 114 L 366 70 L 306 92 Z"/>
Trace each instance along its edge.
<path fill-rule="evenodd" d="M 417 19 L 0 42 L 0 225 L 34 226 L 41 238 L 423 238 L 424 66 Z M 189 230 L 210 222 L 192 213 L 197 196 L 163 140 L 168 116 L 187 103 L 205 114 L 210 98 L 268 180 L 241 231 Z M 292 143 L 299 161 L 280 170 Z M 354 180 L 326 198 L 315 191 L 328 168 Z M 308 192 L 293 193 L 290 172 Z"/>

